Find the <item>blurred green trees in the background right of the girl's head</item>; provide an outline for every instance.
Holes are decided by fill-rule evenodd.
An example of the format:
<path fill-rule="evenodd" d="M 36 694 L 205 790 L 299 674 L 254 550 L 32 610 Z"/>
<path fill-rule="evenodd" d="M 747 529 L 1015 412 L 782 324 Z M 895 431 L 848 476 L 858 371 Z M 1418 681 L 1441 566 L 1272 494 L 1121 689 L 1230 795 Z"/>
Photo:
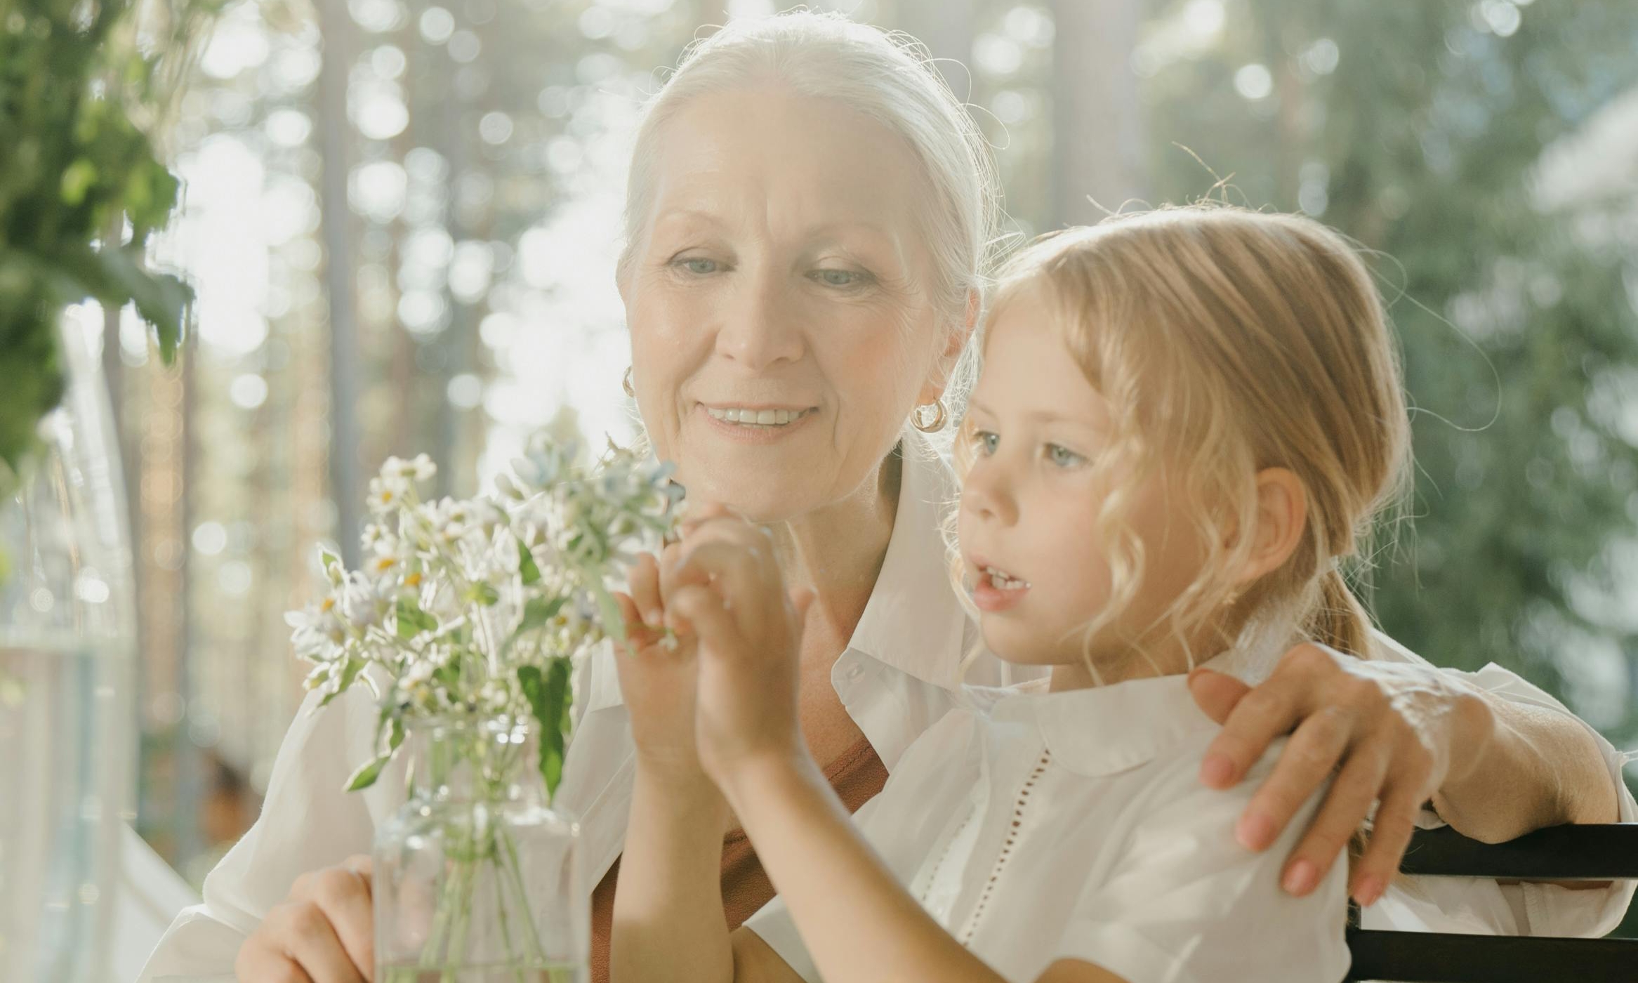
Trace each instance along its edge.
<path fill-rule="evenodd" d="M 1201 197 L 1204 161 L 1230 200 L 1304 208 L 1379 251 L 1417 475 L 1412 521 L 1376 557 L 1374 609 L 1441 665 L 1494 660 L 1572 690 L 1589 639 L 1633 642 L 1586 596 L 1617 588 L 1609 547 L 1631 539 L 1638 503 L 1627 406 L 1609 398 L 1638 365 L 1635 257 L 1548 206 L 1538 164 L 1638 87 L 1638 5 L 1228 8 L 1217 46 L 1147 87 L 1155 197 Z M 1623 719 L 1595 723 L 1631 737 L 1618 704 Z"/>

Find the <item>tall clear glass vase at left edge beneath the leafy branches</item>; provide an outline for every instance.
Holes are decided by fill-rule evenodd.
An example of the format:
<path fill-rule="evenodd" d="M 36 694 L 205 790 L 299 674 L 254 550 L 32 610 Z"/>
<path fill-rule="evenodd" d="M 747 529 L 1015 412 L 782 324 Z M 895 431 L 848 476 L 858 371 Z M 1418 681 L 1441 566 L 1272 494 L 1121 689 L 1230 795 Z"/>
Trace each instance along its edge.
<path fill-rule="evenodd" d="M 67 393 L 0 503 L 0 980 L 103 983 L 136 772 L 136 606 L 102 365 L 62 323 Z"/>

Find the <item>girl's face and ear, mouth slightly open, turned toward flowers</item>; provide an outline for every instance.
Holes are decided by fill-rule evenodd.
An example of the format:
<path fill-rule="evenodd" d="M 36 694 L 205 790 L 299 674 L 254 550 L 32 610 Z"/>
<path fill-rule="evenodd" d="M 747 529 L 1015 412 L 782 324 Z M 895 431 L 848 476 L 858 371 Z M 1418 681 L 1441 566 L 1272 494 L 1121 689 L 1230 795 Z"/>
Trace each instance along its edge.
<path fill-rule="evenodd" d="M 1145 477 L 1094 467 L 1112 439 L 1109 403 L 1086 380 L 1058 321 L 1034 290 L 998 311 L 968 410 L 973 465 L 962 488 L 960 542 L 984 642 L 1009 662 L 1063 667 L 1053 670 L 1055 688 L 1094 682 L 1086 657 L 1104 683 L 1181 672 L 1181 646 L 1165 641 L 1165 626 L 1152 626 L 1199 575 L 1202 541 L 1179 518 L 1166 467 Z M 1114 593 L 1097 514 L 1117 493 L 1143 573 L 1088 650 L 1081 629 Z"/>

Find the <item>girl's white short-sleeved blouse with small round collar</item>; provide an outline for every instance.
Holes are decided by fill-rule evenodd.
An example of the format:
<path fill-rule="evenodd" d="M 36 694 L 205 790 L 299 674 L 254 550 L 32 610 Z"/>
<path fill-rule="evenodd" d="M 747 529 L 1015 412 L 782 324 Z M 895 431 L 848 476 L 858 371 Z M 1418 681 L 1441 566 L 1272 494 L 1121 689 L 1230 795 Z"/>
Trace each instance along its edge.
<path fill-rule="evenodd" d="M 1320 793 L 1269 850 L 1233 839 L 1283 739 L 1250 781 L 1217 791 L 1199 765 L 1219 727 L 1181 675 L 970 701 L 904 752 L 857 822 L 999 975 L 1029 983 L 1060 958 L 1133 983 L 1320 983 L 1348 970 L 1346 865 L 1305 898 L 1279 888 Z M 821 978 L 780 899 L 745 926 Z"/>

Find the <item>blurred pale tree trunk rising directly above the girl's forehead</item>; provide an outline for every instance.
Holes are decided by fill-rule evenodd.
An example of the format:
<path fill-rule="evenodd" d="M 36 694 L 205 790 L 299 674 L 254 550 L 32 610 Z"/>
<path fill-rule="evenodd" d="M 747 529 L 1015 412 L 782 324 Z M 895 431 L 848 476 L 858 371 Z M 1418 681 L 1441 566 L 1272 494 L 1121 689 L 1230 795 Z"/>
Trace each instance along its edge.
<path fill-rule="evenodd" d="M 1053 215 L 1091 224 L 1148 195 L 1132 72 L 1138 0 L 1055 0 Z"/>

